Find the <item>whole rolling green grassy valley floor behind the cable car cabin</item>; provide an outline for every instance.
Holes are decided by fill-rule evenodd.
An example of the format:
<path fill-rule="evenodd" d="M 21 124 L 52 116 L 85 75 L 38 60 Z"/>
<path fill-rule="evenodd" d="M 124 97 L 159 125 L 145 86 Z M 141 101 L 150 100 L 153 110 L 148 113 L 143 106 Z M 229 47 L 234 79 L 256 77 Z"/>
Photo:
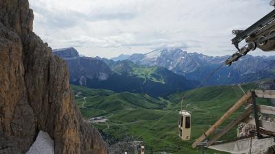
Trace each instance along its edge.
<path fill-rule="evenodd" d="M 258 85 L 245 84 L 242 87 L 249 90 L 258 88 Z M 106 123 L 93 123 L 100 129 L 105 140 L 110 143 L 129 139 L 143 140 L 147 153 L 200 153 L 199 149 L 192 149 L 192 142 L 243 95 L 236 85 L 197 88 L 159 99 L 146 94 L 115 93 L 80 86 L 72 88 L 76 94 L 80 94 L 76 96 L 76 101 L 86 119 L 96 116 L 108 119 Z M 177 136 L 179 101 L 183 94 L 186 96 L 184 109 L 192 112 L 192 135 L 187 142 L 179 140 Z M 86 108 L 82 106 L 83 97 L 87 100 Z M 261 103 L 270 104 L 265 100 L 261 100 Z M 234 113 L 230 119 L 240 112 L 241 110 Z M 236 127 L 221 140 L 234 138 Z M 208 150 L 208 153 L 215 152 Z"/>

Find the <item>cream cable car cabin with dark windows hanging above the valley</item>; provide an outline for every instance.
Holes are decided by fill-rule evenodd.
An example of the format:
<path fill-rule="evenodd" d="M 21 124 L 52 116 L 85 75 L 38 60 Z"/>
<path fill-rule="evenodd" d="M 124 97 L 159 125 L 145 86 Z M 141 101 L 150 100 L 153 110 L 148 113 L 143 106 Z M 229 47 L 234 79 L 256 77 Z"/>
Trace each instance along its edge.
<path fill-rule="evenodd" d="M 191 135 L 191 114 L 182 110 L 179 112 L 179 138 L 190 140 Z"/>

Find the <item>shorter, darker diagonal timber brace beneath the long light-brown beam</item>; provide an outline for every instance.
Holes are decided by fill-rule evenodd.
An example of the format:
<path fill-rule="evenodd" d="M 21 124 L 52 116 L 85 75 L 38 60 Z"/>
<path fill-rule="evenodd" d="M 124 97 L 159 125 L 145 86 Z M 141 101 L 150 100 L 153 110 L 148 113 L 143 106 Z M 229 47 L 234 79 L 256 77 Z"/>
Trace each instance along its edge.
<path fill-rule="evenodd" d="M 230 129 L 232 129 L 232 127 L 234 127 L 236 124 L 240 123 L 245 118 L 248 118 L 248 116 L 250 116 L 250 114 L 252 114 L 252 112 L 253 112 L 252 109 L 253 109 L 253 106 L 249 105 L 248 108 L 239 117 L 232 120 L 231 123 L 226 125 L 219 133 L 216 134 L 216 136 L 214 136 L 214 138 L 212 138 L 209 142 L 207 142 L 206 146 L 208 147 L 208 146 L 212 145 L 214 142 L 219 140 L 219 138 L 221 138 L 221 136 L 223 136 L 225 133 L 230 131 Z"/>

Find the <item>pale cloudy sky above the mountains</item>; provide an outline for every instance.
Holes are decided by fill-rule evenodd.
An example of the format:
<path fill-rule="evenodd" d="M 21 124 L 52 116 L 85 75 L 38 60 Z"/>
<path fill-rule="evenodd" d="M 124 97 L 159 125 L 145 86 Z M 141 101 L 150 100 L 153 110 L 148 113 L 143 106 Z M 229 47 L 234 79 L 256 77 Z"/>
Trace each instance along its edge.
<path fill-rule="evenodd" d="M 30 0 L 34 32 L 52 49 L 115 57 L 180 48 L 231 55 L 232 29 L 246 29 L 274 8 L 270 0 Z M 251 51 L 253 55 L 274 55 Z"/>

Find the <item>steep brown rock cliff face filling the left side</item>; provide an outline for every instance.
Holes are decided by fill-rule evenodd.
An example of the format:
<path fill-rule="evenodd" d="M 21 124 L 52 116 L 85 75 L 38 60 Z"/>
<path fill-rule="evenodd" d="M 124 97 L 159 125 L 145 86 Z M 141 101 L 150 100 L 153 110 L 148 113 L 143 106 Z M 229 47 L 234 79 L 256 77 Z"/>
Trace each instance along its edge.
<path fill-rule="evenodd" d="M 39 130 L 56 154 L 107 153 L 76 108 L 65 62 L 32 32 L 33 18 L 28 0 L 0 0 L 0 153 L 26 153 Z"/>

